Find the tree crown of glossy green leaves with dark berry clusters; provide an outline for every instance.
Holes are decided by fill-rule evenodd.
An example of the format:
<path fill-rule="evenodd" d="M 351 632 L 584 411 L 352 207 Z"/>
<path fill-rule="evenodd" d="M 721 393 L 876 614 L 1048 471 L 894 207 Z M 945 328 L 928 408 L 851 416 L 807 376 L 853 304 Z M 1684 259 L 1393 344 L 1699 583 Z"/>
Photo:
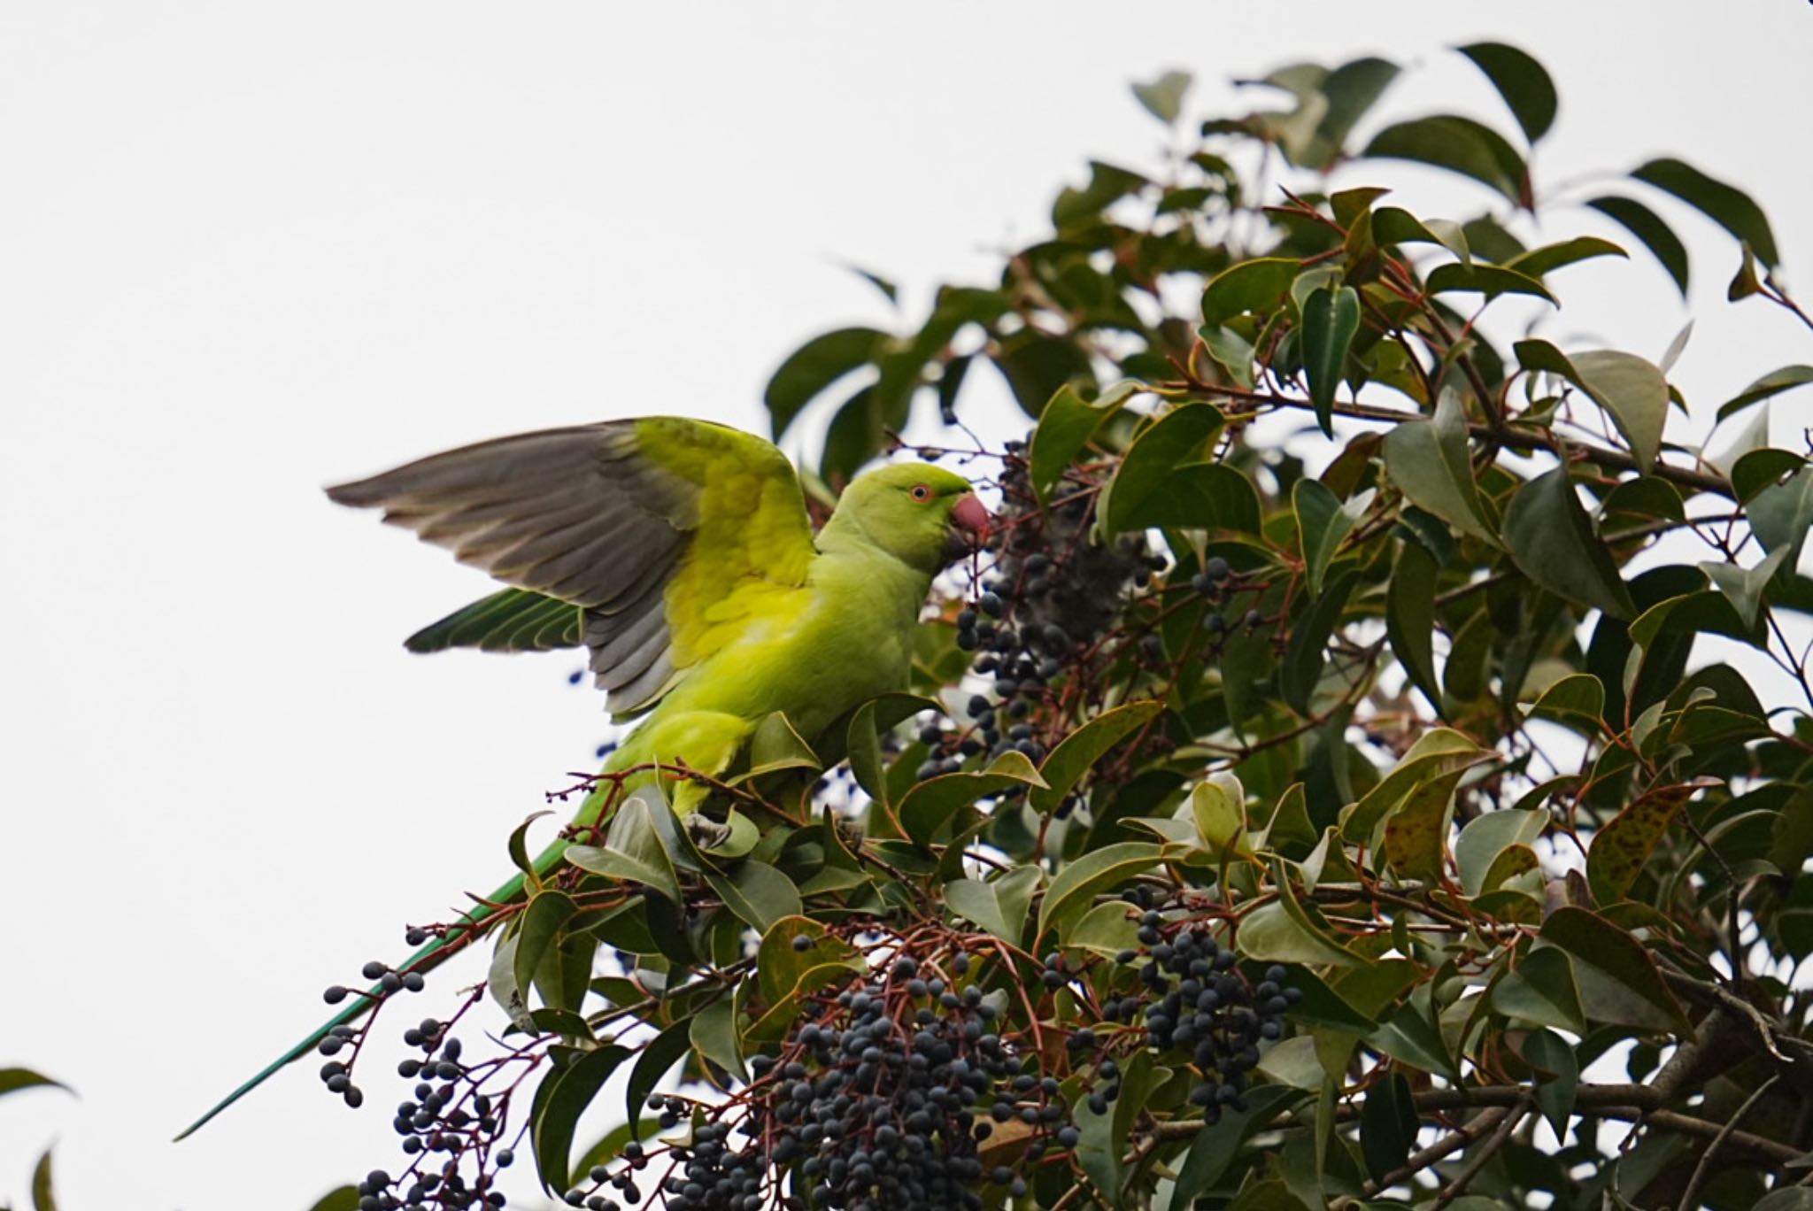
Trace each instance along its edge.
<path fill-rule="evenodd" d="M 702 816 L 625 798 L 504 914 L 359 1206 L 480 1206 L 519 1151 L 589 1207 L 1813 1204 L 1813 470 L 1766 422 L 1813 368 L 1688 401 L 1679 343 L 1505 332 L 1594 257 L 1684 294 L 1692 212 L 1733 301 L 1798 308 L 1688 163 L 1552 199 L 1546 71 L 1459 54 L 1503 120 L 1383 58 L 1200 125 L 1142 83 L 1164 163 L 780 364 L 821 488 L 936 410 L 995 542 L 910 694 L 771 718 Z M 1380 161 L 1476 207 L 1325 190 Z M 984 372 L 1032 422 L 1001 450 Z M 1670 439 L 1708 410 L 1719 460 Z"/>

